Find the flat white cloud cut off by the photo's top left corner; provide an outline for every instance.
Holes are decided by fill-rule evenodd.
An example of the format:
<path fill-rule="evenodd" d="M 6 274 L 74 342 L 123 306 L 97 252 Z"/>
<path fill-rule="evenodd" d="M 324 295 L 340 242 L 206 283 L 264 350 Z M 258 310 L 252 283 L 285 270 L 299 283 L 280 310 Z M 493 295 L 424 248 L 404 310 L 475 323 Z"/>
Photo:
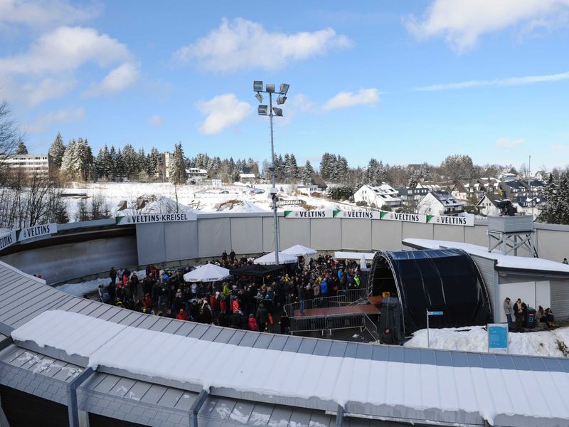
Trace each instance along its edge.
<path fill-rule="evenodd" d="M 57 26 L 95 18 L 100 9 L 96 4 L 78 8 L 64 0 L 0 0 L 0 24 Z"/>

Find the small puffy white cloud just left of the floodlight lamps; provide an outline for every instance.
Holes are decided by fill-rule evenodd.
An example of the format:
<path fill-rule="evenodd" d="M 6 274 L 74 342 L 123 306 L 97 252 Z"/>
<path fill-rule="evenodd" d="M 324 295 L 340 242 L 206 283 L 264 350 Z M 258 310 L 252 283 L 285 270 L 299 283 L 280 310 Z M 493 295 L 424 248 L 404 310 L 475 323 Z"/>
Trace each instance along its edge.
<path fill-rule="evenodd" d="M 230 125 L 238 124 L 252 111 L 247 102 L 238 100 L 233 93 L 198 102 L 197 107 L 200 112 L 207 115 L 200 126 L 200 132 L 206 135 L 219 133 Z"/>

